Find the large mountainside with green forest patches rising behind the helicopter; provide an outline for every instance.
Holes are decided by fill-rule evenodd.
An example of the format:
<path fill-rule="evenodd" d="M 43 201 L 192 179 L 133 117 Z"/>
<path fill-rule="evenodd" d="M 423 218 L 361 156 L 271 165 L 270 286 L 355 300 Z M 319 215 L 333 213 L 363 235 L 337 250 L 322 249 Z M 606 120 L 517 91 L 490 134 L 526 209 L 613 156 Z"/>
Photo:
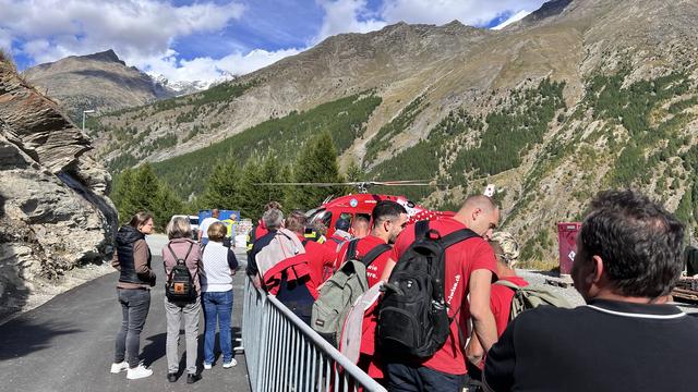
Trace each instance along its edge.
<path fill-rule="evenodd" d="M 555 0 L 502 30 L 398 23 L 341 34 L 205 91 L 99 118 L 97 157 L 144 161 L 183 197 L 217 159 L 293 162 L 329 131 L 369 179 L 453 209 L 494 183 L 522 257 L 553 259 L 556 222 L 633 187 L 698 221 L 698 3 Z"/>

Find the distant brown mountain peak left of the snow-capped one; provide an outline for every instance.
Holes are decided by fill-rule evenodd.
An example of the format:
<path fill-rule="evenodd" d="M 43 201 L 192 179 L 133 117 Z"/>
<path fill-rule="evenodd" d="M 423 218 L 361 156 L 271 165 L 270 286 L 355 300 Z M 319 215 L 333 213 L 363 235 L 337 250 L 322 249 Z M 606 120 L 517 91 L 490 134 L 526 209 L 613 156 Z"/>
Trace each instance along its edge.
<path fill-rule="evenodd" d="M 113 50 L 36 65 L 22 76 L 73 118 L 83 110 L 113 111 L 176 95 L 136 68 L 128 66 Z"/>

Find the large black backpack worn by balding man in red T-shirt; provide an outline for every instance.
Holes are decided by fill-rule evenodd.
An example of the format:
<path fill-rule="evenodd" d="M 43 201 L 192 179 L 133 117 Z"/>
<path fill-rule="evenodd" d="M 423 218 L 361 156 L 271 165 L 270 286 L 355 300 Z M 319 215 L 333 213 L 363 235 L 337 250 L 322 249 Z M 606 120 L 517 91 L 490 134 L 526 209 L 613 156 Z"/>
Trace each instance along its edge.
<path fill-rule="evenodd" d="M 429 230 L 429 221 L 417 222 L 414 242 L 384 285 L 377 326 L 384 352 L 429 358 L 444 345 L 454 321 L 444 301 L 445 250 L 477 236 L 464 229 L 442 237 Z"/>

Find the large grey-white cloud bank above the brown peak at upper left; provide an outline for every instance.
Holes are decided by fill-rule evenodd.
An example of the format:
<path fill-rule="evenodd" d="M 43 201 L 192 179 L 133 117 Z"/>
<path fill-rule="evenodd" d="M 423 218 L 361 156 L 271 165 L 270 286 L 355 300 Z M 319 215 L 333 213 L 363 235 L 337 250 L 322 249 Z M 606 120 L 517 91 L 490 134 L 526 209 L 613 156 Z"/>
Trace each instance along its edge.
<path fill-rule="evenodd" d="M 0 0 L 0 26 L 36 62 L 115 49 L 128 62 L 166 56 L 178 37 L 210 33 L 239 20 L 239 3 L 158 0 Z"/>

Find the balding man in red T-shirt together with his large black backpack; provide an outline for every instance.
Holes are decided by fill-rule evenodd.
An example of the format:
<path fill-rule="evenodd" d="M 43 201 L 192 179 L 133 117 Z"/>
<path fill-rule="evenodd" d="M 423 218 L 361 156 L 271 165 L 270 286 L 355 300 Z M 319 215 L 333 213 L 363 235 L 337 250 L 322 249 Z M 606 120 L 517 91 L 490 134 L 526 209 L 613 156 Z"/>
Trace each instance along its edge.
<path fill-rule="evenodd" d="M 468 319 L 485 350 L 496 341 L 486 240 L 498 221 L 494 200 L 477 195 L 454 217 L 419 221 L 397 238 L 376 330 L 390 391 L 459 391 Z"/>

